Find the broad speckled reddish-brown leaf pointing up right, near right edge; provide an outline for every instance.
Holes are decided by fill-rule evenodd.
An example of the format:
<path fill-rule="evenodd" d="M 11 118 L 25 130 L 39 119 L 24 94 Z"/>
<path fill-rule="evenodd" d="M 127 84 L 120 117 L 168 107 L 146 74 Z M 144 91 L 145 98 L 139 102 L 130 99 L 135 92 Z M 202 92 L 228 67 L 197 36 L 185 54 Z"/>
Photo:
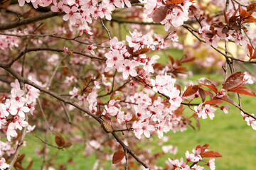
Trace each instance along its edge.
<path fill-rule="evenodd" d="M 239 86 L 240 84 L 242 84 L 244 76 L 245 74 L 243 74 L 242 72 L 235 72 L 231 74 L 230 77 L 228 77 L 228 79 L 226 79 L 226 81 L 224 82 L 223 89 L 229 90 Z"/>

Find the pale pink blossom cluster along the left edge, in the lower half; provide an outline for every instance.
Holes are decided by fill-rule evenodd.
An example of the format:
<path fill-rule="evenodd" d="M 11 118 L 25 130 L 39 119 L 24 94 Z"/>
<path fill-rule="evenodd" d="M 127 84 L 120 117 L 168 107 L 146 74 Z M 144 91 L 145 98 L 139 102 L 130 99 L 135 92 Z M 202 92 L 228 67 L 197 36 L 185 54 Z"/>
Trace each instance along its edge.
<path fill-rule="evenodd" d="M 31 77 L 29 78 L 31 79 Z M 11 95 L 10 98 L 4 98 L 0 103 L 0 128 L 6 133 L 6 139 L 8 142 L 0 141 L 0 156 L 6 154 L 12 154 L 15 149 L 11 147 L 11 137 L 17 137 L 16 130 L 22 130 L 24 127 L 28 127 L 28 132 L 31 132 L 35 126 L 31 127 L 25 120 L 25 114 L 33 113 L 36 105 L 36 98 L 38 98 L 40 91 L 32 86 L 26 86 L 26 94 L 21 89 L 18 80 L 11 83 Z M 5 169 L 8 165 L 5 163 L 5 159 L 2 158 L 0 162 L 0 169 Z"/>

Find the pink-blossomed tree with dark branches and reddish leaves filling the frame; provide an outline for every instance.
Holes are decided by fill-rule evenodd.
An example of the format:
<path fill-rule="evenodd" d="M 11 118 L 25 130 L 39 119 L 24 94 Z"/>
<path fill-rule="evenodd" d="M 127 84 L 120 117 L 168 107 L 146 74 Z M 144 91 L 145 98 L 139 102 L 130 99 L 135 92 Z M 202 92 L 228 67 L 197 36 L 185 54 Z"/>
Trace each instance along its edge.
<path fill-rule="evenodd" d="M 25 156 L 19 156 L 27 132 L 45 146 L 41 150 L 44 155 L 46 145 L 60 150 L 85 142 L 87 154 L 105 152 L 99 159 L 110 156 L 116 169 L 215 169 L 215 158 L 222 157 L 221 151 L 209 150 L 208 144 L 187 151 L 186 159 L 167 160 L 165 167 L 156 166 L 149 149 L 134 144 L 154 136 L 162 139 L 170 131 L 187 130 L 195 121 L 199 128 L 199 119 L 213 119 L 216 110 L 228 113 L 230 106 L 238 108 L 247 125 L 256 130 L 255 115 L 240 102 L 240 94 L 256 96 L 246 86 L 253 84 L 253 77 L 250 72 L 235 70 L 236 64 L 256 63 L 252 28 L 255 3 L 0 3 L 0 169 L 33 166 L 31 162 L 24 168 L 21 163 Z M 237 54 L 229 48 L 234 44 Z M 183 56 L 174 59 L 160 55 L 168 49 L 182 50 Z M 198 51 L 205 52 L 203 59 L 198 58 Z M 160 64 L 164 57 L 169 62 Z M 204 77 L 196 84 L 189 83 L 188 62 L 222 68 L 215 73 L 221 75 L 223 84 L 217 86 L 216 81 Z M 179 78 L 183 78 L 181 83 L 176 81 Z M 238 102 L 233 94 L 237 94 Z M 186 115 L 185 111 L 192 112 Z M 55 145 L 36 135 L 34 129 L 55 135 Z M 83 132 L 87 140 L 81 140 L 78 132 Z M 114 154 L 102 149 L 105 147 Z M 164 150 L 175 152 L 176 147 Z M 97 166 L 99 162 L 95 169 Z M 53 163 L 42 165 L 42 169 L 53 167 Z"/>

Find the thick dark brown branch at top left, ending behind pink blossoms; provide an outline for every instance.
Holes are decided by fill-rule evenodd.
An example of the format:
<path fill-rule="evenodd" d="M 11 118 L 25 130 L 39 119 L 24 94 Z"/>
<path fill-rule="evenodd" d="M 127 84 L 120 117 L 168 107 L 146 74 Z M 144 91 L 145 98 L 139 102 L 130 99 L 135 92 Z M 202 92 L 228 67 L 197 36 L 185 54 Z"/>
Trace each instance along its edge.
<path fill-rule="evenodd" d="M 34 16 L 34 17 L 31 17 L 31 18 L 26 18 L 26 19 L 23 19 L 23 20 L 20 20 L 20 21 L 14 21 L 14 22 L 11 22 L 11 23 L 4 23 L 4 24 L 1 24 L 0 25 L 0 30 L 9 30 L 11 28 L 16 28 L 18 26 L 23 26 L 23 25 L 26 25 L 26 24 L 29 24 L 29 23 L 35 23 L 36 21 L 41 21 L 41 20 L 44 20 L 44 19 L 47 19 L 47 18 L 51 18 L 51 17 L 54 17 L 54 16 L 60 16 L 62 13 L 55 13 L 55 12 L 48 12 L 48 13 L 42 13 L 42 14 L 39 14 L 38 16 Z"/>

